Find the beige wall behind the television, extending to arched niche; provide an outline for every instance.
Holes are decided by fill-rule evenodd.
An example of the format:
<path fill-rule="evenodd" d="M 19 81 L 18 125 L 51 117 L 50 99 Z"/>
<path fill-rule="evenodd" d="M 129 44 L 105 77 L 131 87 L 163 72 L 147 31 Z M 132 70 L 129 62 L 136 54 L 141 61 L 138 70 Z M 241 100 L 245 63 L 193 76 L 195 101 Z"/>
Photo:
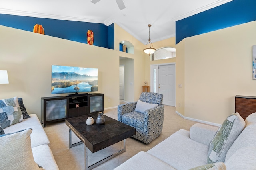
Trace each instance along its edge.
<path fill-rule="evenodd" d="M 40 119 L 41 97 L 51 94 L 51 66 L 98 68 L 98 92 L 104 93 L 104 107 L 119 104 L 119 56 L 134 59 L 134 98 L 141 92 L 144 75 L 144 45 L 115 25 L 115 50 L 78 43 L 47 35 L 0 26 L 0 70 L 7 70 L 9 84 L 0 84 L 2 99 L 22 97 L 28 112 Z M 134 44 L 134 55 L 119 51 L 119 39 Z M 66 94 L 63 94 L 66 95 Z M 110 99 L 110 102 L 108 102 Z"/>

